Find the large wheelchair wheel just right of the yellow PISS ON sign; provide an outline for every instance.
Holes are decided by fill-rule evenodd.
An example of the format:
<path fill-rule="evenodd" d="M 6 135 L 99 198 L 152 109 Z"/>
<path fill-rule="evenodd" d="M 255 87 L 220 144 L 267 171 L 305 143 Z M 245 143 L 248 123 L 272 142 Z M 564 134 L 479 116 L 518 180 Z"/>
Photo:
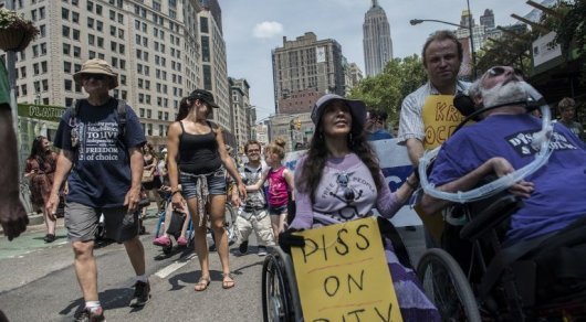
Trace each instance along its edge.
<path fill-rule="evenodd" d="M 432 248 L 426 251 L 417 266 L 417 277 L 442 321 L 481 321 L 470 283 L 446 250 Z"/>

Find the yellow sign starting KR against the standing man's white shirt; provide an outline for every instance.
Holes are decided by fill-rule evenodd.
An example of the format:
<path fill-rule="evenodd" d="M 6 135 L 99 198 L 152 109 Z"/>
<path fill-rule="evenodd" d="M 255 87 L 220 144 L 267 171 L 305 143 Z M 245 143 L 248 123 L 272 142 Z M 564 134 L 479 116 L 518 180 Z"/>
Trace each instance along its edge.
<path fill-rule="evenodd" d="M 423 148 L 433 149 L 446 141 L 464 117 L 453 107 L 452 95 L 430 95 L 421 110 L 426 138 Z"/>

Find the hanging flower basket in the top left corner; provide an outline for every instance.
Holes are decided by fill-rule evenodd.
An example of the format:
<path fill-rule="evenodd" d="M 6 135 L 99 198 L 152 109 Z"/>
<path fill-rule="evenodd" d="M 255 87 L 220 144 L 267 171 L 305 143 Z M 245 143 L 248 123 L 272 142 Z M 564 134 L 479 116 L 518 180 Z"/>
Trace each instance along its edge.
<path fill-rule="evenodd" d="M 36 37 L 39 29 L 32 21 L 17 12 L 0 9 L 0 49 L 4 52 L 21 52 Z"/>

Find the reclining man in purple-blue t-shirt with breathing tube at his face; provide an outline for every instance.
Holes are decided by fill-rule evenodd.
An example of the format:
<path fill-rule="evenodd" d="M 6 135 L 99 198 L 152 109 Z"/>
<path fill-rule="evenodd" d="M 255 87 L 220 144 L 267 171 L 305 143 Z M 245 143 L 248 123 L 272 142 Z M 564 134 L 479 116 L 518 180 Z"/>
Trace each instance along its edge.
<path fill-rule="evenodd" d="M 529 88 L 506 66 L 490 68 L 470 87 L 474 109 L 484 109 L 478 122 L 461 128 L 441 147 L 429 175 L 437 191 L 467 192 L 488 175 L 511 174 L 535 159 L 538 139 L 534 133 L 543 127 L 540 118 L 527 112 Z M 520 307 L 538 309 L 565 302 L 580 312 L 577 314 L 585 314 L 586 147 L 558 124 L 547 137 L 548 161 L 509 187 L 521 203 L 499 242 L 501 250 L 489 260 L 484 276 L 471 283 L 480 302 L 486 303 L 489 293 L 498 288 L 496 280 L 506 282 L 503 276 L 509 269 L 516 276 L 519 297 L 513 301 L 521 300 Z M 453 204 L 426 191 L 420 206 L 432 214 Z M 582 300 L 567 300 L 577 293 Z M 523 314 L 517 316 L 535 318 Z"/>

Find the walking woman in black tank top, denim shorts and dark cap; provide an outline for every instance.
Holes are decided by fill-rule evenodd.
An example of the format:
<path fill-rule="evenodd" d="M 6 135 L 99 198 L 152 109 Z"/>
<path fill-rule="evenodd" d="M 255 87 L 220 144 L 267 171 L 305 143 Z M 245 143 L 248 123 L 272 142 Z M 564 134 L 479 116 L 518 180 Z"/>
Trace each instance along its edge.
<path fill-rule="evenodd" d="M 185 197 L 196 229 L 196 253 L 201 266 L 201 277 L 196 283 L 196 291 L 206 290 L 210 282 L 206 203 L 209 203 L 211 228 L 222 265 L 222 287 L 229 289 L 234 286 L 230 273 L 228 236 L 223 228 L 226 211 L 223 168 L 237 182 L 239 196 L 242 200 L 247 196 L 242 179 L 226 151 L 220 127 L 208 120 L 212 108 L 218 108 L 218 105 L 211 93 L 203 89 L 193 90 L 181 99 L 177 121 L 169 127 L 167 133 L 167 167 L 172 206 L 180 208 Z M 179 184 L 182 191 L 179 190 Z M 240 205 L 239 196 L 232 196 L 232 203 L 237 206 Z"/>

